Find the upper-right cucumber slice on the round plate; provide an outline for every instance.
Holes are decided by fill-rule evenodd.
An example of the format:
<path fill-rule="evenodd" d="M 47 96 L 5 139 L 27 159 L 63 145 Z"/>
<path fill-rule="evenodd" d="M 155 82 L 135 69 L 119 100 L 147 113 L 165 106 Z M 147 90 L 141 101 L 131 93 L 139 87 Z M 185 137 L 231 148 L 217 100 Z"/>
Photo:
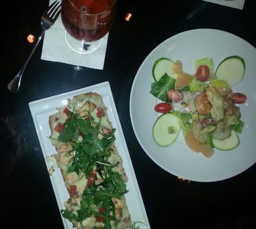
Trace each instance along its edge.
<path fill-rule="evenodd" d="M 232 88 L 238 85 L 245 76 L 245 61 L 239 56 L 227 57 L 219 64 L 215 76 L 219 80 L 226 81 L 228 86 Z"/>

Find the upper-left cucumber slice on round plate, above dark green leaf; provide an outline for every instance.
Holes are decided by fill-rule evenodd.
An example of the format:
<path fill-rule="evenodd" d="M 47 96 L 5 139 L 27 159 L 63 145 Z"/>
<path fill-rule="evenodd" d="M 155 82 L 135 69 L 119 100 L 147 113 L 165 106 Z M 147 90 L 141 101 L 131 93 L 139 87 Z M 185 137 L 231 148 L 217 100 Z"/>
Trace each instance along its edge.
<path fill-rule="evenodd" d="M 154 80 L 157 82 L 162 76 L 164 76 L 165 73 L 168 74 L 168 76 L 176 79 L 176 76 L 174 76 L 174 74 L 172 73 L 173 67 L 174 62 L 169 60 L 168 58 L 161 57 L 156 60 L 152 68 Z"/>

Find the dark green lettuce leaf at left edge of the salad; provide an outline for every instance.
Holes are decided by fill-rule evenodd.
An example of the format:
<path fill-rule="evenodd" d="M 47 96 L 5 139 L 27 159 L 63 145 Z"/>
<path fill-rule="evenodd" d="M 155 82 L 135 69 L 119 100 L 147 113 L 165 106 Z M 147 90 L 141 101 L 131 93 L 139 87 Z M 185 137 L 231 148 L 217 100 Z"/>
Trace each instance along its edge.
<path fill-rule="evenodd" d="M 169 101 L 167 92 L 170 89 L 174 89 L 175 82 L 176 80 L 174 78 L 168 76 L 168 74 L 165 73 L 159 81 L 152 83 L 150 93 L 160 100 L 167 102 Z"/>

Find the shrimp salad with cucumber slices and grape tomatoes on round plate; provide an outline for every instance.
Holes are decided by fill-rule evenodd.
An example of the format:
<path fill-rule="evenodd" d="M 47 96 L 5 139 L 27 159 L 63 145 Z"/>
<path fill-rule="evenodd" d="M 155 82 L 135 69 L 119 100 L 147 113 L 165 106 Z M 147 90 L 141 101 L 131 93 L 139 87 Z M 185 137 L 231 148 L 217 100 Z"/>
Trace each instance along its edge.
<path fill-rule="evenodd" d="M 232 87 L 245 75 L 242 57 L 225 58 L 215 71 L 212 58 L 200 58 L 195 74 L 184 73 L 181 61 L 162 57 L 152 74 L 150 93 L 161 101 L 154 106 L 162 115 L 152 131 L 158 145 L 174 143 L 180 129 L 187 146 L 205 157 L 211 157 L 214 148 L 231 150 L 239 145 L 244 123 L 237 104 L 246 102 L 246 95 L 234 93 Z"/>

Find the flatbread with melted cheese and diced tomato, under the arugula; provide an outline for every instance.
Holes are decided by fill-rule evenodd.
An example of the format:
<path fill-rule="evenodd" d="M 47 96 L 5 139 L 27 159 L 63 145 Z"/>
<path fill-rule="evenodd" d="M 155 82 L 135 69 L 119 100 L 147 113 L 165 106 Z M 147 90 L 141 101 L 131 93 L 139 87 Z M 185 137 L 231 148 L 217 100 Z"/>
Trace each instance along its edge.
<path fill-rule="evenodd" d="M 95 187 L 96 190 L 100 191 L 105 190 L 107 187 L 107 179 L 112 179 L 110 175 L 110 178 L 106 178 L 108 177 L 108 173 L 107 175 L 105 175 L 104 172 L 110 170 L 106 170 L 103 168 L 111 168 L 109 174 L 114 174 L 115 177 L 119 177 L 117 178 L 119 180 L 116 180 L 116 183 L 119 183 L 120 180 L 122 180 L 123 183 L 126 183 L 128 178 L 123 168 L 122 159 L 119 156 L 117 148 L 115 147 L 114 141 L 109 147 L 107 147 L 107 150 L 103 149 L 103 151 L 100 151 L 97 146 L 95 146 L 96 149 L 92 149 L 93 152 L 97 150 L 97 152 L 99 151 L 99 153 L 106 151 L 108 156 L 104 162 L 96 161 L 96 163 L 92 165 L 90 175 L 88 175 L 88 173 L 84 173 L 84 171 L 82 171 L 83 169 L 80 169 L 79 171 L 72 170 L 73 165 L 75 165 L 74 161 L 76 159 L 76 156 L 83 153 L 74 150 L 73 147 L 75 147 L 75 144 L 86 145 L 86 143 L 84 142 L 86 142 L 86 139 L 88 138 L 87 136 L 85 136 L 84 132 L 81 133 L 81 129 L 79 129 L 80 127 L 84 125 L 87 128 L 87 124 L 90 123 L 90 128 L 98 128 L 98 139 L 94 140 L 96 142 L 99 141 L 100 144 L 102 144 L 100 141 L 103 142 L 103 140 L 107 139 L 108 135 L 113 135 L 114 129 L 108 119 L 107 108 L 104 105 L 100 94 L 92 92 L 86 94 L 79 94 L 77 96 L 74 96 L 72 100 L 69 99 L 67 106 L 63 108 L 57 108 L 57 110 L 57 113 L 49 117 L 49 127 L 51 128 L 50 139 L 52 145 L 55 146 L 57 152 L 55 155 L 53 155 L 53 157 L 56 160 L 57 166 L 61 170 L 65 186 L 67 187 L 70 195 L 70 198 L 64 203 L 66 209 L 61 211 L 61 213 L 64 217 L 67 214 L 73 214 L 76 216 L 78 215 L 77 211 L 79 212 L 83 210 L 83 201 L 84 199 L 86 199 L 86 190 L 92 187 Z M 73 118 L 74 115 L 76 116 L 75 118 Z M 80 123 L 82 124 L 80 124 L 80 126 L 76 126 L 77 130 L 75 132 L 77 132 L 77 135 L 73 135 L 74 139 L 63 142 L 60 140 L 60 138 L 64 136 L 64 133 L 67 133 L 67 129 L 69 128 L 70 124 L 67 123 L 71 119 L 80 119 Z M 94 133 L 94 131 L 92 131 L 92 133 Z M 67 134 L 65 136 L 66 140 L 67 136 L 69 135 Z M 86 161 L 84 161 L 84 163 L 86 164 Z M 99 168 L 102 170 L 99 171 Z M 72 217 L 65 218 L 68 218 L 72 222 L 73 226 L 79 229 L 94 227 L 100 228 L 104 227 L 105 223 L 109 223 L 111 228 L 113 229 L 124 229 L 131 227 L 130 213 L 126 204 L 125 195 L 122 194 L 118 198 L 115 198 L 115 196 L 110 196 L 109 199 L 107 201 L 112 201 L 110 205 L 113 204 L 114 206 L 114 209 L 111 210 L 112 213 L 109 209 L 105 210 L 105 208 L 103 207 L 104 203 L 106 204 L 107 202 L 106 200 L 102 200 L 102 202 L 99 202 L 99 200 L 97 200 L 97 202 L 99 203 L 91 204 L 90 206 L 90 208 L 93 209 L 96 213 L 91 215 L 85 214 L 86 216 L 84 218 L 80 217 L 79 220 L 77 220 L 77 218 L 76 220 L 74 220 L 72 219 Z M 110 214 L 109 218 L 111 218 L 112 214 L 112 218 L 114 217 L 114 220 L 107 219 L 107 211 L 108 214 Z"/>

